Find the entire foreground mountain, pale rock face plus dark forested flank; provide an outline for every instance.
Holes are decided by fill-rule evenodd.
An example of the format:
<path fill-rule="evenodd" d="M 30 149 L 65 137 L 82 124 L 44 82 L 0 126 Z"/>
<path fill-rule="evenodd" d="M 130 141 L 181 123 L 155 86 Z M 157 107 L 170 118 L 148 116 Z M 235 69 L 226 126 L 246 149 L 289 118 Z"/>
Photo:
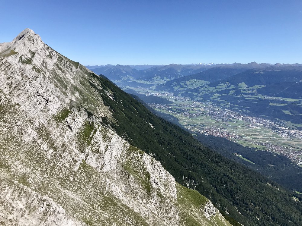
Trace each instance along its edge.
<path fill-rule="evenodd" d="M 300 203 L 278 184 L 226 161 L 106 77 L 40 44 L 1 52 L 0 136 L 9 141 L 0 146 L 5 219 L 21 222 L 31 209 L 31 219 L 54 217 L 57 224 L 228 224 L 180 183 L 245 225 L 260 224 L 255 216 L 268 224 L 301 220 Z"/>

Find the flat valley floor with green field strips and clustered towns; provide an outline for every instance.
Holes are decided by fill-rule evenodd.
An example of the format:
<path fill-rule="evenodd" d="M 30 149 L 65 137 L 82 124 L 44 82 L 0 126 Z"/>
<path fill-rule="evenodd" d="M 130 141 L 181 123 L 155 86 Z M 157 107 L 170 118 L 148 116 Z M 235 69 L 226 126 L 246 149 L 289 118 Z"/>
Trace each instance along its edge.
<path fill-rule="evenodd" d="M 170 104 L 149 105 L 156 111 L 173 115 L 179 120 L 179 124 L 193 134 L 224 137 L 243 146 L 285 155 L 302 167 L 302 131 L 295 129 L 291 122 L 281 123 L 252 117 L 217 106 L 211 101 L 192 101 L 190 98 L 174 96 L 173 93 L 129 88 L 138 93 L 160 96 L 172 101 Z"/>

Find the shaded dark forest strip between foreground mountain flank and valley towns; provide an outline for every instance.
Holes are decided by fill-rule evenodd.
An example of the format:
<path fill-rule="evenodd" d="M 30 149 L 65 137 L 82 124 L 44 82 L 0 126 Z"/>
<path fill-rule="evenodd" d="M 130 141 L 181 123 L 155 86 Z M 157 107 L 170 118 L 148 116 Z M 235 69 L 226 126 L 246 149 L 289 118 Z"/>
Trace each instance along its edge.
<path fill-rule="evenodd" d="M 244 147 L 223 137 L 198 134 L 198 140 L 224 157 L 246 165 L 288 190 L 302 191 L 302 168 L 284 155 Z M 242 155 L 254 164 L 233 155 L 234 153 Z"/>

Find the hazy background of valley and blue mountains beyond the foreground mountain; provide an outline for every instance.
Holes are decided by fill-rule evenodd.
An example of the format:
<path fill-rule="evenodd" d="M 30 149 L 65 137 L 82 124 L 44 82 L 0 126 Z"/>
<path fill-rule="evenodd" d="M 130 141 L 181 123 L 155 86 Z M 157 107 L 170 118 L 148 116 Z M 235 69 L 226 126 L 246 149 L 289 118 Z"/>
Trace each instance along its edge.
<path fill-rule="evenodd" d="M 302 64 L 170 64 L 140 71 L 116 65 L 92 71 L 207 145 L 215 136 L 252 148 L 223 155 L 301 191 Z M 288 181 L 288 174 L 300 179 Z"/>

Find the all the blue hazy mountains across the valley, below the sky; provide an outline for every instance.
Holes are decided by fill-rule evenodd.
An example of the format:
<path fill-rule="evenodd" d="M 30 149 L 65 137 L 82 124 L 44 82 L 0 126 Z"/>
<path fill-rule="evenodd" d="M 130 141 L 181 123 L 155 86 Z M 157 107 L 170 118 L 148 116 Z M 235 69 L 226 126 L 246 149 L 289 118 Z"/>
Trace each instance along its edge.
<path fill-rule="evenodd" d="M 144 70 L 117 64 L 92 71 L 121 87 L 148 87 L 197 101 L 217 101 L 249 115 L 291 121 L 301 128 L 301 68 L 302 64 L 251 62 L 169 64 Z"/>

